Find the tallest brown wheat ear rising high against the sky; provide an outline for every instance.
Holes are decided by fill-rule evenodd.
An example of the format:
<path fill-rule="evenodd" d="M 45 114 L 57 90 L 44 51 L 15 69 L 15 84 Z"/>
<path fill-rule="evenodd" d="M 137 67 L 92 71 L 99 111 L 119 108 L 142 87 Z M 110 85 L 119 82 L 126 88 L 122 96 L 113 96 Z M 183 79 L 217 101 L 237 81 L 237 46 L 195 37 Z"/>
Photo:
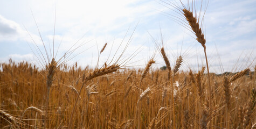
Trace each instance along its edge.
<path fill-rule="evenodd" d="M 183 15 L 186 17 L 186 20 L 188 20 L 189 25 L 192 28 L 192 31 L 195 32 L 197 41 L 200 42 L 200 44 L 205 48 L 205 42 L 206 40 L 204 39 L 204 34 L 199 27 L 198 21 L 195 17 L 193 17 L 193 13 L 189 10 L 183 9 L 182 10 L 184 13 Z"/>

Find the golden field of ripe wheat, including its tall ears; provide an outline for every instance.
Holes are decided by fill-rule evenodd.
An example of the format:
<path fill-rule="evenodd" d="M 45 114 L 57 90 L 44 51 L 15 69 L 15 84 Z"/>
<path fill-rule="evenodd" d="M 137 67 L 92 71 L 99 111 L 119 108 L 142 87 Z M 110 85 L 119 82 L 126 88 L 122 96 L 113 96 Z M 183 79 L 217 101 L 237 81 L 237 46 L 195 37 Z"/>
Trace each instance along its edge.
<path fill-rule="evenodd" d="M 43 68 L 10 59 L 0 65 L 0 128 L 256 128 L 256 66 L 209 73 L 200 23 L 189 8 L 179 11 L 204 50 L 199 71 L 179 70 L 182 56 L 171 66 L 161 45 L 161 69 L 151 68 L 154 55 L 140 69 L 124 69 L 119 59 L 70 66 L 70 53 L 48 53 Z"/>

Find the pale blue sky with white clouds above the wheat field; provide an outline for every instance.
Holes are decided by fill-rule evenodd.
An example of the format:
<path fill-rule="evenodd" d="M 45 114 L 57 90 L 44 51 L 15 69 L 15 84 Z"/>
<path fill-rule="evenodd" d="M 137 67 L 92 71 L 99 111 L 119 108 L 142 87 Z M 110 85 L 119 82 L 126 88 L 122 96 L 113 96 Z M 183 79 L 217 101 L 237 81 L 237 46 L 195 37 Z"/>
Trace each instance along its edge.
<path fill-rule="evenodd" d="M 207 7 L 199 23 L 205 34 L 210 72 L 235 72 L 247 67 L 253 70 L 256 1 L 200 2 L 203 8 L 196 9 L 197 16 Z M 153 57 L 156 61 L 153 68 L 157 69 L 165 66 L 159 52 L 164 47 L 171 67 L 179 55 L 183 57 L 182 70 L 205 66 L 203 47 L 189 27 L 184 27 L 184 17 L 171 6 L 181 5 L 177 0 L 0 0 L 0 3 L 0 62 L 11 58 L 42 68 L 47 62 L 45 45 L 49 56 L 54 53 L 57 60 L 71 50 L 71 56 L 65 55 L 70 65 L 78 62 L 82 67 L 95 67 L 98 60 L 100 65 L 113 63 L 112 59 L 117 61 L 121 56 L 117 62 L 124 68 L 143 68 Z M 99 56 L 106 42 L 107 47 Z"/>

